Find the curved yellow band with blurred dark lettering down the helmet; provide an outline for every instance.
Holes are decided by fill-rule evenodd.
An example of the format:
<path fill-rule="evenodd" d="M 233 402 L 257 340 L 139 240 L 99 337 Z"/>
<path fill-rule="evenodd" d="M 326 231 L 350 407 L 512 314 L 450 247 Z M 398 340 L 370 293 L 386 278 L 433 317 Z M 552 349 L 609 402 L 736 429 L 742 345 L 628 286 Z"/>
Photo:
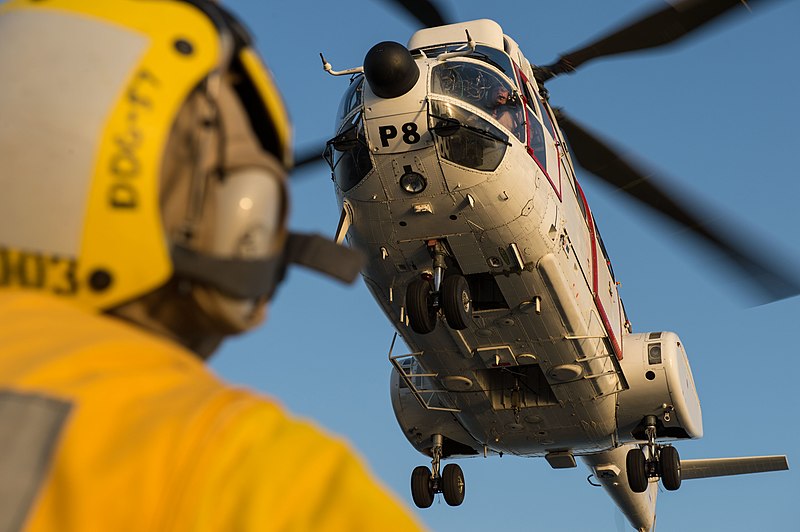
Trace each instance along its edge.
<path fill-rule="evenodd" d="M 113 10 L 108 18 L 148 34 L 151 46 L 120 95 L 98 152 L 78 274 L 89 287 L 81 296 L 95 308 L 146 293 L 172 273 L 158 201 L 163 149 L 181 104 L 220 53 L 211 21 L 187 4 L 126 4 L 129 10 Z"/>

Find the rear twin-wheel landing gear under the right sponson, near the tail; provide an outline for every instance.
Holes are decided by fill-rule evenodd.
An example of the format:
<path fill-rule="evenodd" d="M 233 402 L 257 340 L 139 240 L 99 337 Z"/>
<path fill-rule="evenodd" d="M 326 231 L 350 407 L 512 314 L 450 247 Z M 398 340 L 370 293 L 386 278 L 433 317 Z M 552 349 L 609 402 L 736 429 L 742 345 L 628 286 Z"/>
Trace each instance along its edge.
<path fill-rule="evenodd" d="M 639 448 L 628 451 L 625 460 L 631 490 L 644 493 L 647 491 L 649 479 L 660 477 L 665 489 L 675 491 L 681 487 L 681 459 L 678 450 L 671 445 L 656 443 L 656 416 L 645 417 L 645 434 L 647 444 L 643 447 L 648 450 L 649 458 Z"/>

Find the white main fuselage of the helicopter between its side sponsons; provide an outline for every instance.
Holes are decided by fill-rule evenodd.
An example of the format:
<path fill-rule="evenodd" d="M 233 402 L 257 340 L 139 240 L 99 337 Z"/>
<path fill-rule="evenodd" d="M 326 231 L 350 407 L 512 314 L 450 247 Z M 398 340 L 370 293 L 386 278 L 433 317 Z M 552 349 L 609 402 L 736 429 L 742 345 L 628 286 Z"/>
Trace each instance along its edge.
<path fill-rule="evenodd" d="M 501 43 L 516 51 L 507 37 Z M 505 50 L 495 49 L 508 57 L 504 64 L 479 54 L 435 53 L 417 54 L 419 79 L 402 96 L 380 98 L 362 78 L 352 81 L 338 132 L 355 126 L 364 153 L 353 159 L 363 163 L 368 155 L 369 169 L 362 164 L 364 175 L 354 177 L 357 164 L 349 173 L 334 168 L 339 201 L 352 215 L 348 238 L 368 256 L 365 281 L 420 353 L 406 360 L 407 368 L 435 375 L 420 388 L 439 390 L 426 393 L 452 410 L 446 418 L 457 420 L 458 438 L 444 434 L 465 452 L 583 454 L 630 441 L 616 417 L 618 396 L 629 387 L 622 366 L 629 324 L 566 144 L 535 83 L 527 82 L 530 65 Z M 516 131 L 482 107 L 497 80 L 518 99 Z M 439 135 L 442 114 L 472 119 L 504 142 L 466 128 Z M 405 174 L 422 176 L 424 189 L 404 190 Z M 469 281 L 474 313 L 464 330 L 444 320 L 424 335 L 408 327 L 405 287 L 433 275 L 431 241 L 445 243 L 448 270 Z M 395 411 L 424 452 L 441 427 L 425 430 L 430 424 L 421 418 L 430 409 L 418 412 L 405 384 L 395 378 Z M 683 422 L 671 416 L 675 427 Z M 409 433 L 412 427 L 419 430 Z"/>

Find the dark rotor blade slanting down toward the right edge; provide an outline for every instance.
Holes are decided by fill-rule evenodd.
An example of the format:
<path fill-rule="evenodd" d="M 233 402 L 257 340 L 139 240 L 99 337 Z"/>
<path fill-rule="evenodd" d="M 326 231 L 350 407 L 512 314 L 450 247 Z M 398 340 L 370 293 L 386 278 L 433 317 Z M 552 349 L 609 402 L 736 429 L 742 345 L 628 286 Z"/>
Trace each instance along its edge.
<path fill-rule="evenodd" d="M 636 168 L 630 161 L 623 159 L 619 153 L 600 140 L 598 136 L 567 117 L 563 110 L 555 109 L 554 111 L 561 129 L 572 146 L 575 160 L 585 170 L 651 210 L 683 226 L 701 241 L 717 249 L 741 269 L 768 301 L 800 294 L 800 281 L 758 260 L 756 258 L 759 255 L 758 246 L 753 242 L 742 241 L 741 234 L 733 231 L 723 234 L 719 230 L 712 230 L 694 214 L 705 213 L 704 217 L 710 219 L 707 213 L 713 212 L 711 209 L 694 200 L 691 202 L 680 201 L 674 193 L 668 193 L 656 184 L 656 180 L 660 179 L 655 178 L 654 172 Z M 691 203 L 691 209 L 686 206 L 689 203 Z M 735 224 L 731 223 L 715 223 L 715 225 L 735 227 Z M 762 256 L 765 255 L 762 254 Z"/>

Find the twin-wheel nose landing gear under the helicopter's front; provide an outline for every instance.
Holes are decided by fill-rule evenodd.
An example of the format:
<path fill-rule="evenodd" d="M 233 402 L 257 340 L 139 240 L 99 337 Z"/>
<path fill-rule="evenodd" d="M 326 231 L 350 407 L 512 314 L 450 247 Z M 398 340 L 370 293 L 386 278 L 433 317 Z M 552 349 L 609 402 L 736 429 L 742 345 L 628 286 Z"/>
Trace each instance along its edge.
<path fill-rule="evenodd" d="M 444 276 L 447 268 L 444 244 L 431 240 L 428 249 L 433 257 L 433 276 L 423 275 L 406 288 L 406 311 L 411 328 L 419 334 L 432 332 L 441 309 L 451 329 L 466 329 L 472 319 L 469 284 L 457 273 Z"/>

